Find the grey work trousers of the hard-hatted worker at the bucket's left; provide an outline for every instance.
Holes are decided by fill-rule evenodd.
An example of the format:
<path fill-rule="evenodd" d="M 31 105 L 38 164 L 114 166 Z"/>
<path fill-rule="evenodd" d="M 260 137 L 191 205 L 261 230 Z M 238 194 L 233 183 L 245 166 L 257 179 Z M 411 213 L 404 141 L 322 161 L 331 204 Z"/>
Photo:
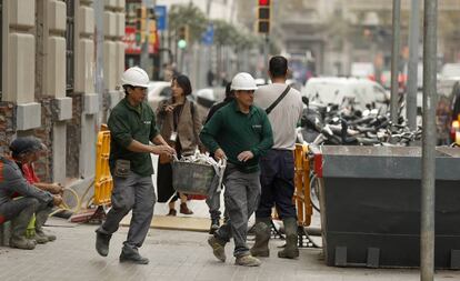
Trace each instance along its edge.
<path fill-rule="evenodd" d="M 112 234 L 118 230 L 120 221 L 132 210 L 132 218 L 124 247 L 137 250 L 143 243 L 153 217 L 157 197 L 152 178 L 141 177 L 132 171 L 127 178 L 113 177 L 112 208 L 106 222 L 97 230 L 103 234 Z"/>

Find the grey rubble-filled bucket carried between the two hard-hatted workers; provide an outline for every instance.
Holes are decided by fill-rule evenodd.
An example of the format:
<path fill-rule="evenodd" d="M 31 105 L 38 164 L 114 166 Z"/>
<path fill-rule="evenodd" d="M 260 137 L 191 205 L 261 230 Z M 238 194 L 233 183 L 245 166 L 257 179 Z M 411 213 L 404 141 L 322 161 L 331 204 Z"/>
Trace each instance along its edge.
<path fill-rule="evenodd" d="M 208 195 L 216 177 L 210 164 L 172 161 L 172 187 L 186 194 Z"/>

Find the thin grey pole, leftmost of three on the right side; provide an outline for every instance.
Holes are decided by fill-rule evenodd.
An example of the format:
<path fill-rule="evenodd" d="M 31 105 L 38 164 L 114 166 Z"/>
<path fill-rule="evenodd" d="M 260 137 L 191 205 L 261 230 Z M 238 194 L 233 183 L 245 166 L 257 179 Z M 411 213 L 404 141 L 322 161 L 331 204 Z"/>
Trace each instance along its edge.
<path fill-rule="evenodd" d="M 401 0 L 393 0 L 393 42 L 391 51 L 391 122 L 398 122 L 399 100 L 399 52 L 400 52 L 400 27 L 401 27 Z"/>

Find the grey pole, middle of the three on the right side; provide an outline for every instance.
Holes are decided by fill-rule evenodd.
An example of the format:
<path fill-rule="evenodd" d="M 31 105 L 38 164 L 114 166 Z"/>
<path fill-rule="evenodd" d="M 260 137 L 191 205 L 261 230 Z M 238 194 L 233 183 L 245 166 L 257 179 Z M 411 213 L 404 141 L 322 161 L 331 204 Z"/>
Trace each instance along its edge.
<path fill-rule="evenodd" d="M 419 67 L 419 38 L 420 38 L 420 0 L 412 0 L 409 28 L 409 66 L 408 66 L 408 94 L 407 119 L 408 126 L 417 130 L 417 91 Z"/>

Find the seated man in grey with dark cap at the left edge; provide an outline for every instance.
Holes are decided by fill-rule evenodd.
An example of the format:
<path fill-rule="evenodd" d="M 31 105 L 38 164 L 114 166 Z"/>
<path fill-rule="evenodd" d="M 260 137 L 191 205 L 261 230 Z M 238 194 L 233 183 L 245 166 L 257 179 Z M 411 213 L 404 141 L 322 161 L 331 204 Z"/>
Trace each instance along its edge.
<path fill-rule="evenodd" d="M 10 247 L 12 248 L 32 250 L 37 242 L 50 241 L 50 237 L 43 233 L 42 225 L 51 208 L 62 203 L 59 194 L 51 194 L 31 185 L 16 163 L 23 162 L 28 158 L 27 154 L 41 149 L 37 143 L 41 144 L 37 139 L 18 138 L 10 144 L 12 158 L 0 157 L 0 217 L 3 220 L 11 220 Z M 22 198 L 13 199 L 14 194 Z M 36 213 L 36 237 L 27 239 L 26 229 L 33 213 Z"/>

